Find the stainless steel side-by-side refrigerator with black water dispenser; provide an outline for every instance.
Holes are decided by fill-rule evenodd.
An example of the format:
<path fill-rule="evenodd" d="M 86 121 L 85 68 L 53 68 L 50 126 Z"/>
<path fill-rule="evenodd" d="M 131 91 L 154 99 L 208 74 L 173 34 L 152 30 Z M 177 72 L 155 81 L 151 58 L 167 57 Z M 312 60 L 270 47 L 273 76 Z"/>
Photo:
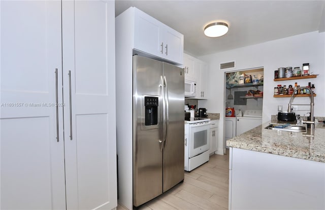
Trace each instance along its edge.
<path fill-rule="evenodd" d="M 184 180 L 183 69 L 133 56 L 133 205 Z"/>

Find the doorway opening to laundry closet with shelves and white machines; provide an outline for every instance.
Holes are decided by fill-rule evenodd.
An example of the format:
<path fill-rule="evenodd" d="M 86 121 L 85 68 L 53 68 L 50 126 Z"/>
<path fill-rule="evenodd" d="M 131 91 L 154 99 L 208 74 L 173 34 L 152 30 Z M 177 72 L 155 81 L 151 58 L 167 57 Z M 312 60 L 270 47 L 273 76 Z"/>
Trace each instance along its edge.
<path fill-rule="evenodd" d="M 224 149 L 226 140 L 262 124 L 264 68 L 225 72 L 225 78 Z M 251 116 L 256 118 L 245 121 L 243 127 L 239 121 Z"/>

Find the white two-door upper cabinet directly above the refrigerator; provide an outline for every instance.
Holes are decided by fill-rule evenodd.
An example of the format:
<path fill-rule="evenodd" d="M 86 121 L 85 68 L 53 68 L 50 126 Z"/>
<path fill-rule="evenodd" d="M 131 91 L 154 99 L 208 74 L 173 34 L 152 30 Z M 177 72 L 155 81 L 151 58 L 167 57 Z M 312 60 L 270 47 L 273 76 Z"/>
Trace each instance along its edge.
<path fill-rule="evenodd" d="M 134 49 L 183 64 L 183 34 L 137 8 L 134 10 Z"/>

